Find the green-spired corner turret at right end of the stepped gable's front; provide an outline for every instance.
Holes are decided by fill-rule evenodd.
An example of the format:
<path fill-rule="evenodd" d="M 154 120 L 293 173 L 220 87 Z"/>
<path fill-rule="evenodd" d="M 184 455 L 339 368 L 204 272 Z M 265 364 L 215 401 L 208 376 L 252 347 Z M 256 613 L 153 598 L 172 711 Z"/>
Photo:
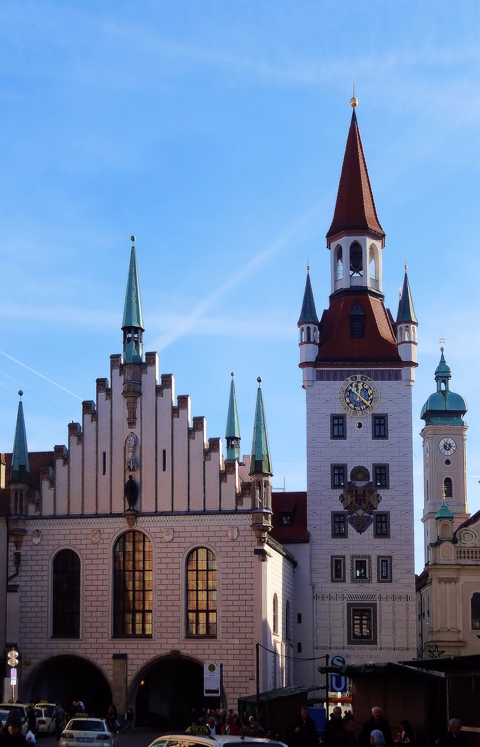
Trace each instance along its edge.
<path fill-rule="evenodd" d="M 252 479 L 252 523 L 260 560 L 266 560 L 264 549 L 268 533 L 271 532 L 271 469 L 270 447 L 268 445 L 265 408 L 263 405 L 260 376 L 256 379 L 259 387 L 256 391 L 255 420 L 253 422 L 252 453 L 250 456 L 250 477 Z"/>

